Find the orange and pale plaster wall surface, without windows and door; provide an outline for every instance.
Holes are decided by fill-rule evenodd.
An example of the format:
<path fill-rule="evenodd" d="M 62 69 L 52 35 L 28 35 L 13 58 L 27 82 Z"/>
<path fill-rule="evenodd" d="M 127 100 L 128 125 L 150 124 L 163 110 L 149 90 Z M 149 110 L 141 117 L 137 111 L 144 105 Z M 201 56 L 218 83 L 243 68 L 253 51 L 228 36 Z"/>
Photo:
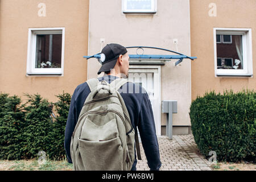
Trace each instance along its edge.
<path fill-rule="evenodd" d="M 254 0 L 162 0 L 158 1 L 157 13 L 147 15 L 123 14 L 119 0 L 44 0 L 46 17 L 39 17 L 41 2 L 0 1 L 0 92 L 24 99 L 23 93 L 39 93 L 50 101 L 56 101 L 55 95 L 63 90 L 72 94 L 87 78 L 98 77 L 97 60 L 82 56 L 100 52 L 107 43 L 160 47 L 197 56 L 192 64 L 186 59 L 180 66 L 174 67 L 175 61 L 171 61 L 161 68 L 159 100 L 177 100 L 174 126 L 191 125 L 191 98 L 195 100 L 207 90 L 256 88 L 255 77 L 215 77 L 213 51 L 214 27 L 251 28 L 256 72 Z M 210 3 L 217 5 L 216 17 L 208 15 Z M 63 76 L 26 76 L 28 28 L 34 27 L 65 27 Z M 101 38 L 105 39 L 102 45 Z M 174 39 L 178 39 L 177 48 Z M 167 52 L 152 50 L 145 54 Z M 165 126 L 166 114 L 161 116 Z"/>

